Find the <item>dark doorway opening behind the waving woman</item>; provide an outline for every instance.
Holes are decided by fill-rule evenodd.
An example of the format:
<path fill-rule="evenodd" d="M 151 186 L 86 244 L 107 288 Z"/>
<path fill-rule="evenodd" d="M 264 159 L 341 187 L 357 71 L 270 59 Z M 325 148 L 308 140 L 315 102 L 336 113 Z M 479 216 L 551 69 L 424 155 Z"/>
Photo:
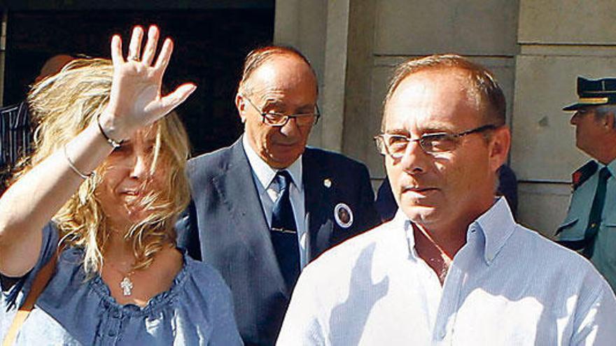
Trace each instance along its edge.
<path fill-rule="evenodd" d="M 170 89 L 184 81 L 198 86 L 178 110 L 193 154 L 229 145 L 241 134 L 233 104 L 241 62 L 249 50 L 272 41 L 274 0 L 178 1 L 181 8 L 158 5 L 160 1 L 128 1 L 130 10 L 113 8 L 121 7 L 118 1 L 110 1 L 112 5 L 98 1 L 96 9 L 59 2 L 64 2 L 63 10 L 45 8 L 49 5 L 8 8 L 4 105 L 22 101 L 48 57 L 59 53 L 109 57 L 112 34 L 122 34 L 126 43 L 134 24 L 158 24 L 162 37 L 174 39 L 176 47 L 165 84 Z M 195 3 L 193 8 L 190 3 Z"/>

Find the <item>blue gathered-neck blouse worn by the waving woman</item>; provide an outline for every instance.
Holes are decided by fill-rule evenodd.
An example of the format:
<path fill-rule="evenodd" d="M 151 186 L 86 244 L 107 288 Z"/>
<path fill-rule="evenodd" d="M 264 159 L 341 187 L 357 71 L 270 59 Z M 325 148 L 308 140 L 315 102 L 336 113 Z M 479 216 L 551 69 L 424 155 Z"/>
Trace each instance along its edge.
<path fill-rule="evenodd" d="M 48 224 L 36 266 L 13 286 L 2 287 L 0 340 L 57 242 L 57 229 Z M 99 275 L 86 280 L 82 249 L 64 250 L 15 345 L 241 345 L 223 278 L 186 253 L 183 258 L 172 287 L 141 308 L 117 303 Z"/>

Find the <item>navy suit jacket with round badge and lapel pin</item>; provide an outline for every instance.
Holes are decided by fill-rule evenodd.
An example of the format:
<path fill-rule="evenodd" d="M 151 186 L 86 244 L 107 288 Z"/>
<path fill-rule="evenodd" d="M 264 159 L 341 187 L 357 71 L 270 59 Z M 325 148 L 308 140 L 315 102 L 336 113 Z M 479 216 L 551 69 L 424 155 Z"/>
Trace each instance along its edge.
<path fill-rule="evenodd" d="M 341 154 L 307 147 L 302 156 L 309 261 L 376 226 L 379 217 L 367 168 Z M 269 238 L 251 166 L 240 140 L 188 161 L 193 201 L 180 217 L 178 243 L 214 266 L 229 285 L 246 345 L 274 345 L 289 303 Z M 334 215 L 349 206 L 353 223 Z M 343 226 L 341 226 L 341 224 Z M 299 260 L 299 259 L 298 259 Z"/>

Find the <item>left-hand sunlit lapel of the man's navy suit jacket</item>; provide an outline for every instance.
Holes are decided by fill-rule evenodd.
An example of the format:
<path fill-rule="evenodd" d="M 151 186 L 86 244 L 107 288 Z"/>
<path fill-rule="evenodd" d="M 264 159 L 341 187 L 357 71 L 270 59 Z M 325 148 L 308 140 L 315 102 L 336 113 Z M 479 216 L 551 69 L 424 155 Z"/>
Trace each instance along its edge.
<path fill-rule="evenodd" d="M 278 278 L 275 286 L 281 292 L 286 292 L 286 284 L 269 237 L 269 226 L 263 215 L 261 199 L 241 137 L 230 147 L 228 162 L 228 166 L 223 168 L 221 174 L 212 182 L 221 195 L 221 201 L 228 207 L 231 216 L 229 222 L 235 224 L 229 229 L 235 229 L 239 233 L 237 236 L 244 240 L 254 257 L 265 260 L 267 268 L 263 270 L 272 271 L 270 277 Z"/>

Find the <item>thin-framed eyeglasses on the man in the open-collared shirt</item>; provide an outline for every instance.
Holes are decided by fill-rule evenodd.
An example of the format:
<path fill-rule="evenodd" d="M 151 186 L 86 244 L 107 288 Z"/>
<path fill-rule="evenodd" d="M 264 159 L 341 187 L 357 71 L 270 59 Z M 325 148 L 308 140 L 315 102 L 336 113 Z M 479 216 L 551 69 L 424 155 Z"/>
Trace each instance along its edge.
<path fill-rule="evenodd" d="M 421 149 L 428 154 L 437 154 L 440 152 L 451 152 L 458 147 L 460 138 L 470 134 L 478 134 L 483 131 L 498 129 L 498 126 L 487 124 L 482 127 L 470 129 L 468 131 L 459 132 L 457 134 L 449 134 L 447 132 L 438 132 L 435 134 L 425 134 L 419 138 L 410 138 L 400 134 L 379 134 L 374 137 L 374 142 L 377 149 L 383 155 L 389 155 L 393 159 L 400 159 L 404 156 L 409 143 L 417 142 Z"/>

